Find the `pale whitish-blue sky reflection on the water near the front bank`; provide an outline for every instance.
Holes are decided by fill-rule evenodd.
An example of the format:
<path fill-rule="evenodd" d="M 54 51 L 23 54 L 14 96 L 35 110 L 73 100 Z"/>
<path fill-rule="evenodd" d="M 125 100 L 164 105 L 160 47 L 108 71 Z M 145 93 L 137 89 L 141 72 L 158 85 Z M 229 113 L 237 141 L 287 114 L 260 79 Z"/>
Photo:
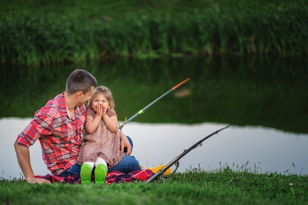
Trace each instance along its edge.
<path fill-rule="evenodd" d="M 2 118 L 0 172 L 4 178 L 20 177 L 13 143 L 31 118 Z M 148 167 L 167 164 L 185 149 L 226 124 L 153 124 L 129 122 L 123 133 L 133 139 L 133 155 Z M 259 173 L 308 174 L 308 134 L 294 134 L 265 127 L 231 126 L 203 142 L 180 159 L 177 172 L 192 168 L 213 171 L 225 164 L 237 170 L 245 166 Z M 50 172 L 42 160 L 40 144 L 30 148 L 35 175 Z M 220 165 L 221 163 L 221 165 Z M 294 166 L 293 166 L 293 164 Z M 237 166 L 239 166 L 237 168 Z M 175 169 L 175 166 L 173 166 Z"/>

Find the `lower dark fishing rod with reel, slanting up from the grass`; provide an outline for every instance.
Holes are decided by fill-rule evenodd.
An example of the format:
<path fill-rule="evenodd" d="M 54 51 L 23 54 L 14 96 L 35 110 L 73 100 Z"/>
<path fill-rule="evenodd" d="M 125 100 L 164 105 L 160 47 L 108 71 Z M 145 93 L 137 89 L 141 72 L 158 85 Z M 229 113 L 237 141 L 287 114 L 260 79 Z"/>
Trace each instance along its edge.
<path fill-rule="evenodd" d="M 217 134 L 219 131 L 228 128 L 229 126 L 231 126 L 231 124 L 229 124 L 228 126 L 225 126 L 219 130 L 216 130 L 215 132 L 213 132 L 212 134 L 206 136 L 205 138 L 203 138 L 202 140 L 200 140 L 199 142 L 197 142 L 196 144 L 194 144 L 193 146 L 190 146 L 188 149 L 185 149 L 184 152 L 182 154 L 180 154 L 179 156 L 177 156 L 176 158 L 174 158 L 174 160 L 172 160 L 171 162 L 169 162 L 169 164 L 167 164 L 166 166 L 164 166 L 163 168 L 161 168 L 160 170 L 158 170 L 158 172 L 156 174 L 154 174 L 153 176 L 151 176 L 151 178 L 149 178 L 146 183 L 150 183 L 152 181 L 154 181 L 158 176 L 163 176 L 163 174 L 166 172 L 167 169 L 169 169 L 172 165 L 174 165 L 176 162 L 179 161 L 179 159 L 181 159 L 185 154 L 187 154 L 189 151 L 191 151 L 192 149 L 198 147 L 198 146 L 202 146 L 202 142 L 205 141 L 206 139 L 208 139 L 209 137 Z"/>

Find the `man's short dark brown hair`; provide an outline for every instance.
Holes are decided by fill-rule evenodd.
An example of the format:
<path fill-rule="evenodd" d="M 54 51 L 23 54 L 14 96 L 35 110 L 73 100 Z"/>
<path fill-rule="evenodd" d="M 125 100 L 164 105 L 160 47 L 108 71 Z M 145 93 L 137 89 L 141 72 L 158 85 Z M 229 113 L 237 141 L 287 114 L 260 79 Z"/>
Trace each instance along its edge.
<path fill-rule="evenodd" d="M 97 81 L 91 73 L 86 70 L 74 70 L 67 78 L 65 91 L 69 94 L 74 94 L 78 91 L 83 91 L 84 94 L 97 86 Z"/>

